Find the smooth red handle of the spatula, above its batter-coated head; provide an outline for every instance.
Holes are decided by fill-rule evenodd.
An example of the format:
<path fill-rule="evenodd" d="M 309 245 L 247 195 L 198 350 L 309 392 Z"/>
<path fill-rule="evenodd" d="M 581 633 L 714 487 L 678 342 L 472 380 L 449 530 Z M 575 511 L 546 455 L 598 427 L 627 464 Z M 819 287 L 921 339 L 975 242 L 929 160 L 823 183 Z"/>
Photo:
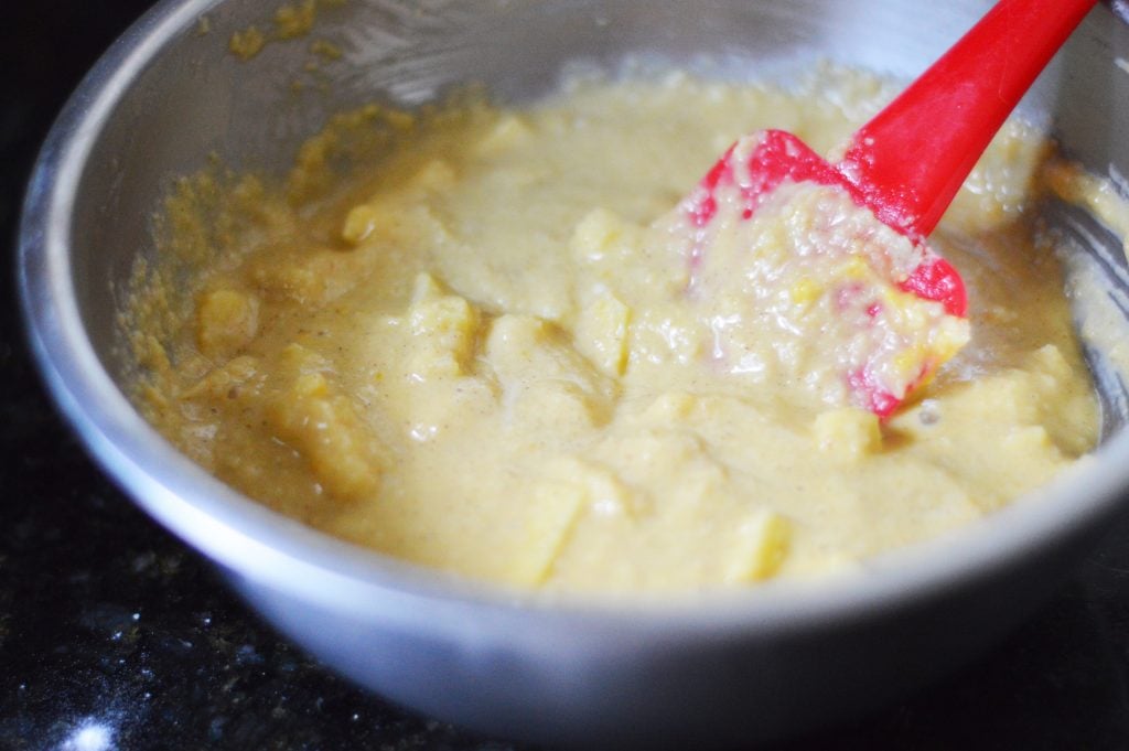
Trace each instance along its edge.
<path fill-rule="evenodd" d="M 887 225 L 925 237 L 1096 0 L 1001 0 L 856 134 L 839 169 Z"/>

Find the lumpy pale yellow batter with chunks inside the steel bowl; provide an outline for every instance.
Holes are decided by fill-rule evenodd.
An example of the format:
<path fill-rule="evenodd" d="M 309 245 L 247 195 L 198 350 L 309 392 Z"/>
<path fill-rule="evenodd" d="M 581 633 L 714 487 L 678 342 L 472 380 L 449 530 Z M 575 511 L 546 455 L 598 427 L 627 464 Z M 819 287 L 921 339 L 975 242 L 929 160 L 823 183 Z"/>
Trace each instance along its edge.
<path fill-rule="evenodd" d="M 1058 263 L 1029 216 L 1049 149 L 1006 126 L 931 238 L 968 285 L 971 342 L 879 420 L 806 377 L 808 338 L 750 313 L 764 288 L 787 296 L 762 312 L 819 308 L 819 279 L 758 285 L 739 253 L 701 271 L 669 241 L 671 211 L 737 137 L 780 128 L 829 152 L 889 95 L 816 78 L 369 108 L 312 140 L 278 190 L 186 181 L 169 268 L 199 281 L 182 307 L 172 272 L 143 270 L 139 403 L 285 514 L 520 586 L 747 585 L 968 524 L 1096 439 Z M 347 131 L 380 158 L 338 178 Z M 808 232 L 798 216 L 762 242 Z"/>

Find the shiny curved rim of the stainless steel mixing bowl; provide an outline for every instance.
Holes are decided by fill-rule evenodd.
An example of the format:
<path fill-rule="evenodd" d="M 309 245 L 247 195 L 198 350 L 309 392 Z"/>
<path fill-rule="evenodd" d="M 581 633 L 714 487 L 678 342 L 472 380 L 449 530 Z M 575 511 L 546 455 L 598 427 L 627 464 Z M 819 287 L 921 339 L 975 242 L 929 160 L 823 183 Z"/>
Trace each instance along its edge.
<path fill-rule="evenodd" d="M 163 0 L 81 81 L 44 141 L 28 183 L 17 281 L 41 374 L 88 451 L 150 516 L 239 576 L 360 617 L 415 625 L 485 610 L 595 631 L 628 625 L 669 635 L 686 629 L 794 630 L 873 615 L 988 578 L 1096 527 L 1129 495 L 1129 430 L 1123 430 L 1033 497 L 949 535 L 878 556 L 858 574 L 665 600 L 548 594 L 425 569 L 331 538 L 251 500 L 174 448 L 117 388 L 86 335 L 70 264 L 79 185 L 115 105 L 172 40 L 222 2 Z"/>

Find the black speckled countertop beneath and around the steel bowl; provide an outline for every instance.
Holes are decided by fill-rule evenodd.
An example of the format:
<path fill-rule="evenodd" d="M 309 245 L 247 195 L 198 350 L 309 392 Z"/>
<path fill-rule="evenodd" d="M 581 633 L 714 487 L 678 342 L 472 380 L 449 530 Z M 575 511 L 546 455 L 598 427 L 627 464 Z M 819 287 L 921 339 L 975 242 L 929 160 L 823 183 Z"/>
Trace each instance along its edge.
<path fill-rule="evenodd" d="M 6 3 L 0 232 L 43 133 L 146 0 Z M 49 51 L 38 41 L 51 40 Z M 10 243 L 9 243 L 10 244 Z M 515 749 L 390 706 L 263 625 L 91 464 L 0 304 L 0 750 Z M 777 751 L 1129 748 L 1129 521 L 947 682 Z"/>

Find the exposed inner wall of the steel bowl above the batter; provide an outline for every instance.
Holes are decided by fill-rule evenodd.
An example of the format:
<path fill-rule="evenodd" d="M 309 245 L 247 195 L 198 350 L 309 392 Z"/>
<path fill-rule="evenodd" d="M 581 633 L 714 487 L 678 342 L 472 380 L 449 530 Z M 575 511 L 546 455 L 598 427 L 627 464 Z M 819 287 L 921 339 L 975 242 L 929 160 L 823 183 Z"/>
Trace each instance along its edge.
<path fill-rule="evenodd" d="M 785 80 L 825 59 L 908 79 L 989 6 L 719 0 L 703 14 L 679 0 L 355 0 L 320 7 L 308 34 L 271 41 L 244 60 L 230 41 L 271 27 L 261 3 L 168 0 L 99 63 L 85 89 L 97 96 L 71 104 L 47 147 L 61 152 L 43 201 L 54 201 L 53 232 L 69 264 L 64 282 L 73 285 L 80 330 L 70 333 L 89 340 L 114 384 L 130 377 L 119 320 L 130 274 L 138 257 L 156 257 L 160 198 L 211 155 L 235 169 L 280 175 L 336 112 L 369 102 L 417 106 L 469 82 L 520 103 L 553 89 L 570 67 L 614 70 L 628 58 Z M 314 40 L 342 54 L 312 67 Z M 1129 25 L 1099 6 L 1022 107 L 1068 155 L 1123 189 L 1129 75 L 1121 54 L 1129 54 Z M 1049 216 L 1104 270 L 1119 315 L 1129 317 L 1120 303 L 1129 291 L 1121 239 L 1078 209 L 1058 207 Z M 1089 356 L 1110 440 L 1129 419 L 1129 398 L 1103 353 Z"/>

